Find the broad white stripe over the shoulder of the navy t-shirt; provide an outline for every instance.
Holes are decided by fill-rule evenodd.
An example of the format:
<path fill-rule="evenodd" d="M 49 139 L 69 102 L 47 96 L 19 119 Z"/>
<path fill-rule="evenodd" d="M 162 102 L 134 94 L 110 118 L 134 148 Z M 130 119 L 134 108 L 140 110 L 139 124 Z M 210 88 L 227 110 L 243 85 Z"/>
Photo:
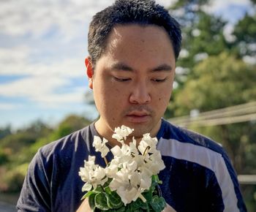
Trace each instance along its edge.
<path fill-rule="evenodd" d="M 195 162 L 212 170 L 222 190 L 222 200 L 225 205 L 224 211 L 239 212 L 233 181 L 230 178 L 230 174 L 228 173 L 227 166 L 221 154 L 200 145 L 182 143 L 178 140 L 167 140 L 164 138 L 158 141 L 157 149 L 161 152 L 162 156 L 172 156 L 176 159 Z"/>

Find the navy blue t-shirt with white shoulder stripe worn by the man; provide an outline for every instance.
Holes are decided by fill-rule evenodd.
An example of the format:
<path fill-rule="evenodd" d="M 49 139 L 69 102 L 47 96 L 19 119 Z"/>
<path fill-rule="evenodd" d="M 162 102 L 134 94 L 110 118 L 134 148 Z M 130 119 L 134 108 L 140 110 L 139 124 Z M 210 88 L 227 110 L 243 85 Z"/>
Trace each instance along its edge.
<path fill-rule="evenodd" d="M 92 147 L 94 135 L 91 124 L 40 148 L 29 165 L 18 211 L 76 211 L 84 195 L 78 175 L 84 160 L 93 155 L 105 167 Z M 236 173 L 219 144 L 163 119 L 157 139 L 165 162 L 159 173 L 162 196 L 176 211 L 246 211 Z M 107 160 L 112 158 L 109 153 Z"/>

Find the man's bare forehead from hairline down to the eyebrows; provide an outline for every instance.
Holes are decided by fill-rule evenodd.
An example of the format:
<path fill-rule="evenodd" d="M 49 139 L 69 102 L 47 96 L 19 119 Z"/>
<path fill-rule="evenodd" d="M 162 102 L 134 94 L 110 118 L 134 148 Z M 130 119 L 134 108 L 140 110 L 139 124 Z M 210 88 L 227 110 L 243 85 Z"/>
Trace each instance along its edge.
<path fill-rule="evenodd" d="M 175 67 L 173 45 L 165 29 L 159 26 L 115 26 L 106 44 L 105 53 L 97 61 L 104 62 L 104 67 L 120 62 L 132 69 L 153 69 L 162 64 Z"/>

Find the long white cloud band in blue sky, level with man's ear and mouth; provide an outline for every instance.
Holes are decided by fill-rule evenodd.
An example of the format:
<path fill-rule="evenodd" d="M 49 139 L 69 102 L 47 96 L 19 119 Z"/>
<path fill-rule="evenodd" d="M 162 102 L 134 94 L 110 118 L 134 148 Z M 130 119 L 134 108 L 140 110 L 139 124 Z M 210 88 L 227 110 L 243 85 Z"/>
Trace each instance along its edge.
<path fill-rule="evenodd" d="M 69 78 L 33 76 L 0 85 L 0 95 L 23 97 L 40 107 L 56 107 L 61 104 L 83 104 L 86 86 L 70 89 L 67 93 L 56 92 L 58 88 L 69 86 Z M 7 105 L 8 106 L 8 105 Z M 9 104 L 10 106 L 10 104 Z M 63 106 L 63 105 L 62 105 Z"/>

